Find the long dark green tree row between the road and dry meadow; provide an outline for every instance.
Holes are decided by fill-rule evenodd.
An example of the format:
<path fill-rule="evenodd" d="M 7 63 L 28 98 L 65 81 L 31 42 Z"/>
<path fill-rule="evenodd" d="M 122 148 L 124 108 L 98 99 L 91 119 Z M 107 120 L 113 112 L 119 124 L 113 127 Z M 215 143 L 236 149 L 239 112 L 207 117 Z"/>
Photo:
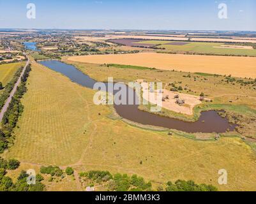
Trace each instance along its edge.
<path fill-rule="evenodd" d="M 0 152 L 3 152 L 4 149 L 8 147 L 8 138 L 10 138 L 13 128 L 15 128 L 19 116 L 23 112 L 23 105 L 20 102 L 23 94 L 26 92 L 26 81 L 29 76 L 29 71 L 31 71 L 31 66 L 27 66 L 25 69 L 24 75 L 21 78 L 21 83 L 17 87 L 11 102 L 8 106 L 8 109 L 4 113 L 2 120 L 2 128 L 0 129 Z"/>

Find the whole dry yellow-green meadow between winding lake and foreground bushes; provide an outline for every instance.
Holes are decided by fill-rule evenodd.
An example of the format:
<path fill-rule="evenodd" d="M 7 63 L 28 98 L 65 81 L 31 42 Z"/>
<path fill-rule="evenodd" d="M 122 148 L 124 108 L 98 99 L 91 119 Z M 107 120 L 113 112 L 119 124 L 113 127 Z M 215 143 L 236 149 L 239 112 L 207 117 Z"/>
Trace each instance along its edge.
<path fill-rule="evenodd" d="M 117 70 L 129 72 L 113 68 L 113 72 Z M 94 105 L 93 94 L 93 90 L 33 62 L 15 141 L 3 156 L 31 167 L 56 164 L 72 166 L 77 172 L 135 173 L 154 186 L 167 180 L 192 179 L 223 191 L 255 189 L 255 153 L 241 138 L 201 141 L 136 128 L 114 117 L 111 106 Z M 229 171 L 229 185 L 218 185 L 222 168 Z M 69 181 L 54 184 L 52 189 L 64 189 L 62 184 L 67 186 Z M 74 185 L 70 180 L 70 186 Z"/>

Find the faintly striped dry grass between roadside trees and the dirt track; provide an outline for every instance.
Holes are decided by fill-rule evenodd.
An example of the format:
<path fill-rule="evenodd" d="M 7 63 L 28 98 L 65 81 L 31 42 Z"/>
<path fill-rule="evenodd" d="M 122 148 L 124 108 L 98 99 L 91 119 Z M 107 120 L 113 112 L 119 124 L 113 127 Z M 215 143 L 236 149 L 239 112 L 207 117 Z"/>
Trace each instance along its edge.
<path fill-rule="evenodd" d="M 87 111 L 93 91 L 38 64 L 33 64 L 27 88 L 17 140 L 8 157 L 44 164 L 78 161 L 89 140 L 91 120 L 98 115 L 91 111 L 89 117 Z"/>

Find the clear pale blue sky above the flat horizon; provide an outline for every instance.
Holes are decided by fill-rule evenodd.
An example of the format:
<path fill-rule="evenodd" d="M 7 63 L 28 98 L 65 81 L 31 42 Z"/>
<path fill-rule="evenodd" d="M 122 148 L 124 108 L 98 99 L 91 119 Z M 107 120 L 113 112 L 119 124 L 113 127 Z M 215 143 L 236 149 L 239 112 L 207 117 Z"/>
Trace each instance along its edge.
<path fill-rule="evenodd" d="M 220 3 L 227 19 L 218 18 Z M 255 0 L 0 0 L 0 28 L 256 31 L 255 19 Z"/>

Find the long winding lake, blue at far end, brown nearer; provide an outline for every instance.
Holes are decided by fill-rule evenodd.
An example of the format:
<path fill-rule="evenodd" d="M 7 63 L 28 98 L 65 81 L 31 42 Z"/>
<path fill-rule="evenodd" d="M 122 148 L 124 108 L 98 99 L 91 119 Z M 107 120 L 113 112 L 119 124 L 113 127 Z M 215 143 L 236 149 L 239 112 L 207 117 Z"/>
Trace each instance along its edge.
<path fill-rule="evenodd" d="M 84 87 L 93 89 L 93 85 L 96 83 L 95 80 L 70 64 L 60 61 L 40 61 L 40 64 L 66 75 L 66 77 L 70 78 L 70 80 L 77 82 L 77 84 L 83 85 Z M 121 86 L 128 88 L 124 84 Z M 108 84 L 106 84 L 106 88 L 107 87 Z M 114 94 L 116 94 L 116 92 L 117 91 L 114 91 Z M 133 94 L 133 96 L 135 95 L 136 94 Z M 135 100 L 136 98 L 133 98 L 133 101 Z M 199 120 L 196 122 L 184 122 L 183 120 L 171 119 L 168 117 L 155 115 L 153 113 L 143 112 L 138 109 L 138 105 L 114 105 L 114 108 L 116 109 L 116 112 L 124 119 L 132 120 L 133 122 L 144 125 L 177 129 L 187 133 L 224 133 L 227 129 L 232 131 L 236 127 L 235 124 L 230 124 L 227 119 L 220 117 L 218 112 L 215 110 L 201 112 Z"/>

